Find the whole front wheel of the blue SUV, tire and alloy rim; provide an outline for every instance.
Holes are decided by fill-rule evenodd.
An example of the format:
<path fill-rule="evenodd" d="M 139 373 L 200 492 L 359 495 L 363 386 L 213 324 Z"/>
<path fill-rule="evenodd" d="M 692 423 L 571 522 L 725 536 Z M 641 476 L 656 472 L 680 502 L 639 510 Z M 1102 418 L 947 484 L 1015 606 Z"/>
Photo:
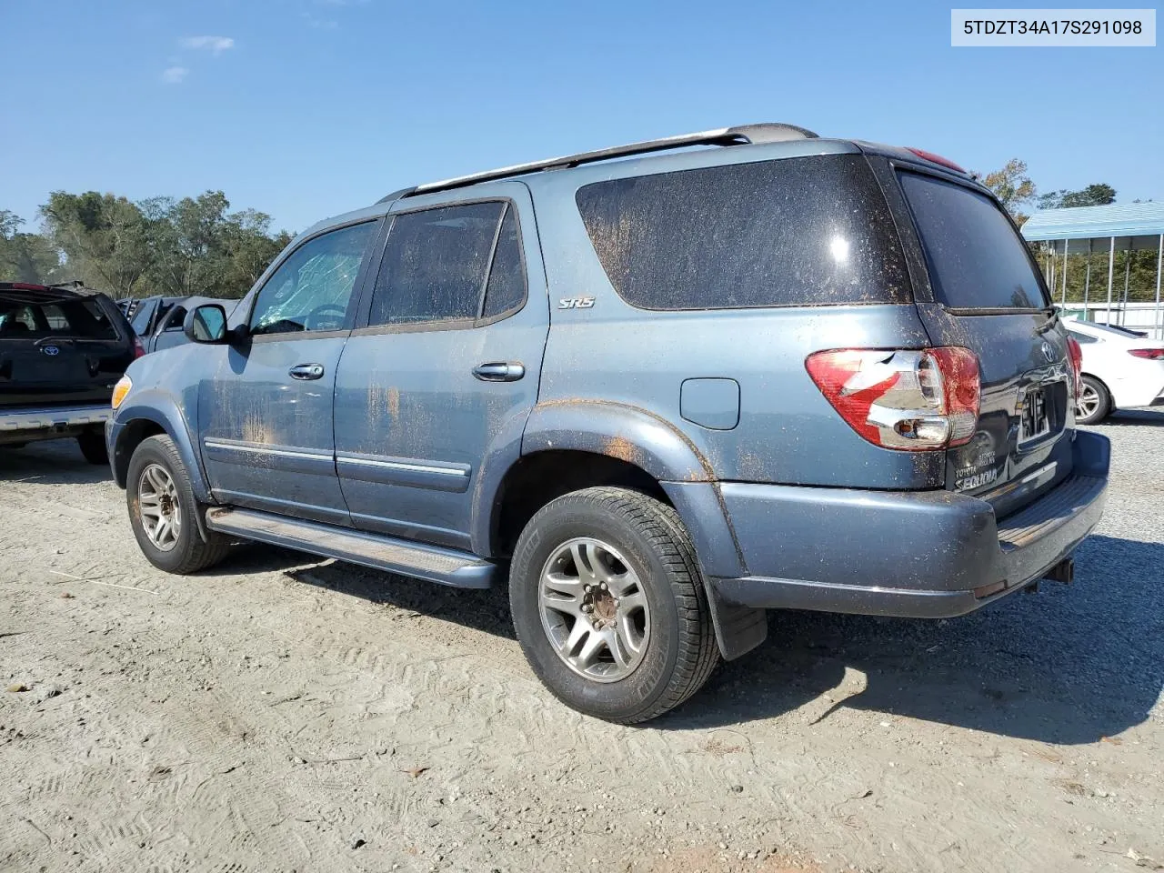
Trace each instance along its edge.
<path fill-rule="evenodd" d="M 197 573 L 222 560 L 228 540 L 198 531 L 205 506 L 194 498 L 190 476 L 173 441 L 164 435 L 142 440 L 129 460 L 126 503 L 134 537 L 147 560 L 168 573 Z"/>

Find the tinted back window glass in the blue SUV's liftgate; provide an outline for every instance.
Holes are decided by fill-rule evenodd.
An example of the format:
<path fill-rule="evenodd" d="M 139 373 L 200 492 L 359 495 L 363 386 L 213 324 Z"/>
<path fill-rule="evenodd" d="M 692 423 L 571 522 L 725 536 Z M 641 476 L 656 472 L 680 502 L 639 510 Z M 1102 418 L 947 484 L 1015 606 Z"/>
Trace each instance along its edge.
<path fill-rule="evenodd" d="M 1027 244 L 988 197 L 932 176 L 899 176 L 938 303 L 954 310 L 1049 305 Z"/>

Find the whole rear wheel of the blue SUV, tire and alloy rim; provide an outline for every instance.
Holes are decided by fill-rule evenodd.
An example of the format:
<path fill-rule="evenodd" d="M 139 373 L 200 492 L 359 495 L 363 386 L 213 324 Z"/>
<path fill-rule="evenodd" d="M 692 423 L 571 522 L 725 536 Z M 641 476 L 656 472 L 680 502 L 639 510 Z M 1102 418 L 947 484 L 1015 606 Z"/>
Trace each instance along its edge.
<path fill-rule="evenodd" d="M 637 491 L 589 488 L 546 504 L 518 539 L 510 605 L 538 677 L 610 722 L 677 707 L 719 658 L 690 538 L 675 510 Z"/>

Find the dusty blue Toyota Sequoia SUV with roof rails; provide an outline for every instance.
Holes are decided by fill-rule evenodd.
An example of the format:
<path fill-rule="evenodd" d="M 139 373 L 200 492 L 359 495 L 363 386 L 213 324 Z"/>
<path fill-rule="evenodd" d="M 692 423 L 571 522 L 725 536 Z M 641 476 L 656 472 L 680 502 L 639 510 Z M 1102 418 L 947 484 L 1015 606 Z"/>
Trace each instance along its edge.
<path fill-rule="evenodd" d="M 155 566 L 249 539 L 508 580 L 534 672 L 613 722 L 767 609 L 958 616 L 1070 579 L 1106 492 L 1078 346 L 991 192 L 787 125 L 396 192 L 185 331 L 107 427 Z"/>

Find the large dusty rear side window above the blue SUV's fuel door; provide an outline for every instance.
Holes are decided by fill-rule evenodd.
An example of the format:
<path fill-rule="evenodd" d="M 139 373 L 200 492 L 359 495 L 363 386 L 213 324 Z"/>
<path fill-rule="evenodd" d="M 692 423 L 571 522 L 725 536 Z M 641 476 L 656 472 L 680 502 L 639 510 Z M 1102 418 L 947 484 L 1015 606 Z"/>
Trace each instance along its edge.
<path fill-rule="evenodd" d="M 909 303 L 893 220 L 860 155 L 597 182 L 576 201 L 633 306 Z"/>

